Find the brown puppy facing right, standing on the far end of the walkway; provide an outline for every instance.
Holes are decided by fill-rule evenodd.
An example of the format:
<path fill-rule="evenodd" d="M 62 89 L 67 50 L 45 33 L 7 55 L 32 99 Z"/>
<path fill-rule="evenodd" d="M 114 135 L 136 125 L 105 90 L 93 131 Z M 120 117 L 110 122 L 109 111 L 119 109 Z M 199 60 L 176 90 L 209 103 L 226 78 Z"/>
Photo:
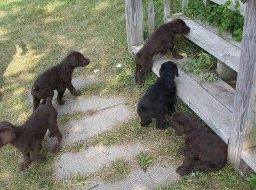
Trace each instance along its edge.
<path fill-rule="evenodd" d="M 69 51 L 60 64 L 53 66 L 51 69 L 44 71 L 34 82 L 31 88 L 31 95 L 33 96 L 33 110 L 38 108 L 41 99 L 42 105 L 45 104 L 47 97 L 52 98 L 54 95 L 53 90 L 58 91 L 57 101 L 59 105 L 63 105 L 63 94 L 68 88 L 74 96 L 80 96 L 81 93 L 77 92 L 72 85 L 72 72 L 74 68 L 80 66 L 84 67 L 90 63 L 90 59 L 84 57 L 83 54 L 77 51 Z"/>

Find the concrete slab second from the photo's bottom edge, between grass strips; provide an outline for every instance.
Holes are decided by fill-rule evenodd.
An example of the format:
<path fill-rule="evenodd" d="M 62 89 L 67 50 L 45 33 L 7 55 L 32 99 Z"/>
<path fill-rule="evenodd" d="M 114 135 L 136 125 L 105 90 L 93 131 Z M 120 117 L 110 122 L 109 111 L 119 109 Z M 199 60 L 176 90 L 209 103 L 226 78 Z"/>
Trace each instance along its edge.
<path fill-rule="evenodd" d="M 82 175 L 97 172 L 102 166 L 108 166 L 111 161 L 123 158 L 129 160 L 145 152 L 146 147 L 141 143 L 133 143 L 130 145 L 114 145 L 111 147 L 97 145 L 86 150 L 72 154 L 70 152 L 62 154 L 55 164 L 54 174 L 60 178 L 66 178 L 68 175 Z"/>

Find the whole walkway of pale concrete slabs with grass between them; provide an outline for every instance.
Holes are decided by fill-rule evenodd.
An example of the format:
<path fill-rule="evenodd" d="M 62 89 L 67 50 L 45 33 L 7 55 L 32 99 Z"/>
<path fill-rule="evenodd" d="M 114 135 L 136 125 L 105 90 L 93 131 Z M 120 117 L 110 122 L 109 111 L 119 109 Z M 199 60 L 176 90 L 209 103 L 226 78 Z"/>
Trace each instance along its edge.
<path fill-rule="evenodd" d="M 88 78 L 77 77 L 72 80 L 76 89 L 93 82 Z M 65 92 L 65 93 L 68 93 Z M 31 99 L 31 96 L 29 96 Z M 54 102 L 54 101 L 53 101 Z M 67 145 L 72 145 L 79 140 L 88 140 L 99 133 L 111 130 L 115 124 L 129 121 L 132 110 L 125 105 L 124 99 L 121 98 L 104 98 L 104 97 L 77 97 L 65 99 L 65 105 L 54 104 L 59 115 L 63 113 L 89 112 L 93 110 L 93 115 L 86 115 L 83 118 L 70 121 L 65 126 L 60 126 L 63 135 L 61 149 Z M 46 144 L 49 147 L 53 145 L 53 139 L 47 136 Z M 90 175 L 98 172 L 103 166 L 108 166 L 115 159 L 124 159 L 131 161 L 140 152 L 147 152 L 147 146 L 141 142 L 135 142 L 125 145 L 89 147 L 77 153 L 66 152 L 56 157 L 54 163 L 54 175 L 59 179 L 75 177 L 80 175 Z M 127 177 L 115 182 L 97 181 L 89 184 L 83 189 L 153 189 L 154 187 L 166 186 L 179 179 L 175 172 L 177 166 L 168 163 L 154 163 L 147 172 L 139 167 L 135 167 Z"/>

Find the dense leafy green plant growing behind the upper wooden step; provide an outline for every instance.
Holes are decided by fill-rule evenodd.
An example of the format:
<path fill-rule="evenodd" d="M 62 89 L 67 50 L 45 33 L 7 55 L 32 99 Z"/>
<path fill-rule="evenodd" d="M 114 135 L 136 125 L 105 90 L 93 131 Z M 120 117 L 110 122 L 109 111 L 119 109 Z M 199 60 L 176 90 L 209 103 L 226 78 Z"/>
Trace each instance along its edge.
<path fill-rule="evenodd" d="M 218 26 L 218 33 L 230 31 L 234 41 L 240 41 L 243 34 L 244 17 L 239 14 L 239 1 L 235 1 L 234 11 L 228 8 L 231 1 L 224 4 L 211 3 L 206 8 L 201 0 L 189 1 L 186 8 L 186 14 L 190 17 L 196 17 L 202 22 L 209 22 L 212 26 Z"/>

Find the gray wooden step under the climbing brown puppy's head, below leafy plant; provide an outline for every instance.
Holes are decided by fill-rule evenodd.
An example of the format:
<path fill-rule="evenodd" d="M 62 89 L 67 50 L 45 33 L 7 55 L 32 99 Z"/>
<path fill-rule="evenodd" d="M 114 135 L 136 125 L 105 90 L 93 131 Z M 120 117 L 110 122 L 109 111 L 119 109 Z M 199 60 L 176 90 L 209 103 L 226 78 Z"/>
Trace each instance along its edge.
<path fill-rule="evenodd" d="M 216 31 L 216 27 L 211 26 L 211 31 L 210 29 L 204 27 L 202 23 L 191 20 L 191 18 L 188 18 L 180 13 L 172 15 L 170 18 L 165 18 L 164 20 L 165 22 L 170 22 L 173 18 L 182 18 L 191 28 L 191 31 L 184 35 L 186 38 L 193 41 L 196 45 L 209 52 L 209 54 L 225 63 L 230 68 L 238 71 L 241 52 L 241 45 L 239 45 L 239 43 L 230 43 L 230 41 L 221 38 L 218 34 L 216 34 L 216 32 L 213 32 L 214 30 Z"/>

